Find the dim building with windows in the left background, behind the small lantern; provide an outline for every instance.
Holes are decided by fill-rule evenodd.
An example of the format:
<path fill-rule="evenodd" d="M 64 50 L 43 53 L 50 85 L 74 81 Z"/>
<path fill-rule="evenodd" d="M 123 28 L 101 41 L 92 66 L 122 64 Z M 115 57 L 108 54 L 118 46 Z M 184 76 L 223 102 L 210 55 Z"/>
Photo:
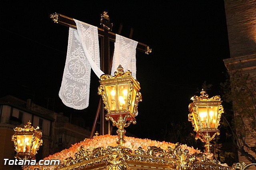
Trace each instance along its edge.
<path fill-rule="evenodd" d="M 11 141 L 14 127 L 24 127 L 28 121 L 39 126 L 43 136 L 36 160 L 69 148 L 72 144 L 90 137 L 90 131 L 69 122 L 61 113 L 53 112 L 36 104 L 30 99 L 20 100 L 14 96 L 0 98 L 0 169 L 21 169 L 21 166 L 4 165 L 4 159 L 14 159 L 14 143 Z"/>

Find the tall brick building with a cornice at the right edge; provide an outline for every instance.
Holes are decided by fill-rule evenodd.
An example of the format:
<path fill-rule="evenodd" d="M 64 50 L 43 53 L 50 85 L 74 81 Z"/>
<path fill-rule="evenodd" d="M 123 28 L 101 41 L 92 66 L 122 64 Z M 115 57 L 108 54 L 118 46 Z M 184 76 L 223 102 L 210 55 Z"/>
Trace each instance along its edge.
<path fill-rule="evenodd" d="M 231 82 L 239 162 L 256 160 L 256 1 L 224 0 L 230 58 L 224 59 Z M 256 162 L 254 162 L 256 163 Z"/>

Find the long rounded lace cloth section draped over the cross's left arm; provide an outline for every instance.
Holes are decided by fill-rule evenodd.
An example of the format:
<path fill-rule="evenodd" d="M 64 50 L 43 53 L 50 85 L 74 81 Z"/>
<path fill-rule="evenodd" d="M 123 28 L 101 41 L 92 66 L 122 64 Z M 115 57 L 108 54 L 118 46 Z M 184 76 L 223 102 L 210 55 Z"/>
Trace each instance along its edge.
<path fill-rule="evenodd" d="M 59 96 L 71 108 L 88 107 L 91 67 L 100 78 L 98 28 L 78 20 L 77 30 L 70 28 L 68 51 Z"/>

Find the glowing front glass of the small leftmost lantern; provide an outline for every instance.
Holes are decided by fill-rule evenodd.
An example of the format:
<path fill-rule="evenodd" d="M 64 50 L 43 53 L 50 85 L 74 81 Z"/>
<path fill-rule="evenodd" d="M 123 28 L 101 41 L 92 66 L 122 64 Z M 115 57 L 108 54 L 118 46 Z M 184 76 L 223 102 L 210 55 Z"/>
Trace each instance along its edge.
<path fill-rule="evenodd" d="M 18 152 L 29 152 L 32 135 L 17 135 Z"/>

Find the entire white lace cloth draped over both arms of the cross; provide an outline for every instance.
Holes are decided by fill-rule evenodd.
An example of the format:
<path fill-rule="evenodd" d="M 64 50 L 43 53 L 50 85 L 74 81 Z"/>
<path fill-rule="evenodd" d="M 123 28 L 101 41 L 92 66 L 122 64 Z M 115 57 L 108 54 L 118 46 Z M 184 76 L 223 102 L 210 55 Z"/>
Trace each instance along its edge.
<path fill-rule="evenodd" d="M 71 108 L 82 110 L 89 105 L 91 68 L 100 78 L 98 28 L 75 20 L 76 29 L 69 28 L 68 51 L 59 96 Z M 138 42 L 116 34 L 112 72 L 122 65 L 136 79 L 136 46 Z"/>

